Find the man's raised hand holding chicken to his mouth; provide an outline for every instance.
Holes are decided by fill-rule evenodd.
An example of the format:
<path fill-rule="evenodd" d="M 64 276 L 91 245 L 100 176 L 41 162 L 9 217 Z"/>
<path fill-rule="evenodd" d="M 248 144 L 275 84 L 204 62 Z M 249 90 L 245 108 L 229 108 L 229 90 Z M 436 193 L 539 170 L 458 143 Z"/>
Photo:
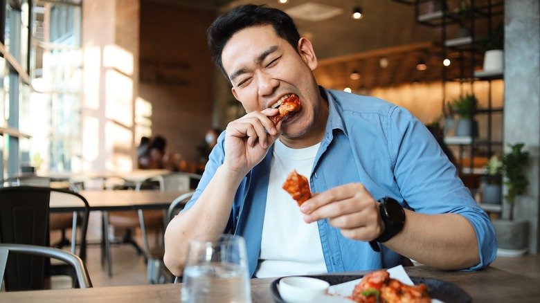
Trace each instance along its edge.
<path fill-rule="evenodd" d="M 275 116 L 278 112 L 278 109 L 252 111 L 229 122 L 225 134 L 224 166 L 230 172 L 243 177 L 267 155 L 269 147 L 280 136 L 279 127 L 268 116 Z"/>

